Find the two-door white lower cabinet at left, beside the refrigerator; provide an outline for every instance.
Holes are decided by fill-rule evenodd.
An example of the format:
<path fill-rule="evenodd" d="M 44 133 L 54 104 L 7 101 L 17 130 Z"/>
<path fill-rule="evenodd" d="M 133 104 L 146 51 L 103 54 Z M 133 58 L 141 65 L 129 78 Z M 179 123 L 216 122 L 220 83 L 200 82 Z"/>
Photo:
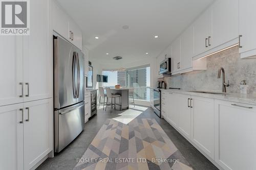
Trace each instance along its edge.
<path fill-rule="evenodd" d="M 52 99 L 0 107 L 0 169 L 31 169 L 52 151 L 52 108 Z"/>

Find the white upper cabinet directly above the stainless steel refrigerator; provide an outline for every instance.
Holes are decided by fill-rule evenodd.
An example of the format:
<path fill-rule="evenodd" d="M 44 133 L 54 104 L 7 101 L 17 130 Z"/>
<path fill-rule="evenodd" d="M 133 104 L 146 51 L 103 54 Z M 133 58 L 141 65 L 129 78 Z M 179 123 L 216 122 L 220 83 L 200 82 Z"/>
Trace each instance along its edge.
<path fill-rule="evenodd" d="M 82 32 L 61 7 L 53 3 L 53 30 L 82 50 Z"/>

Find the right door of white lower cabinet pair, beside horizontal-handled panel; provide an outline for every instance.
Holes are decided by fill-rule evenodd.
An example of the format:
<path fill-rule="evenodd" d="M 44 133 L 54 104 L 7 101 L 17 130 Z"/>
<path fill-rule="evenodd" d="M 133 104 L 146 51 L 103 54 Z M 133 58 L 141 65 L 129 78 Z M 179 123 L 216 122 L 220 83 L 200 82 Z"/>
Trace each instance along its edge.
<path fill-rule="evenodd" d="M 214 159 L 214 99 L 191 95 L 191 140 Z"/>

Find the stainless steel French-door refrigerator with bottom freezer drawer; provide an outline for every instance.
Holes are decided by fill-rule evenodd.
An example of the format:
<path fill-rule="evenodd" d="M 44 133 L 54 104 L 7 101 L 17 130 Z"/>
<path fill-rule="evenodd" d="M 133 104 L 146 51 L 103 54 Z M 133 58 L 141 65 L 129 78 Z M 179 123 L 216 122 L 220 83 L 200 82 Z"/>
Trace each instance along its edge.
<path fill-rule="evenodd" d="M 54 49 L 54 151 L 60 152 L 84 128 L 84 58 L 60 36 Z"/>

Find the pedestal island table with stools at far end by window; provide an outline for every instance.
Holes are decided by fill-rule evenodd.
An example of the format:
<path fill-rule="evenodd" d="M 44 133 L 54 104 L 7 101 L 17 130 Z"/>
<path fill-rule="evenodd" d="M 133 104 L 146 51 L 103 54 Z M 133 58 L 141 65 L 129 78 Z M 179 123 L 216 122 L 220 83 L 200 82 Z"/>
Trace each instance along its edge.
<path fill-rule="evenodd" d="M 134 88 L 110 88 L 112 94 L 121 95 L 120 110 L 129 109 L 129 90 Z M 116 104 L 119 104 L 119 98 L 116 98 Z"/>

